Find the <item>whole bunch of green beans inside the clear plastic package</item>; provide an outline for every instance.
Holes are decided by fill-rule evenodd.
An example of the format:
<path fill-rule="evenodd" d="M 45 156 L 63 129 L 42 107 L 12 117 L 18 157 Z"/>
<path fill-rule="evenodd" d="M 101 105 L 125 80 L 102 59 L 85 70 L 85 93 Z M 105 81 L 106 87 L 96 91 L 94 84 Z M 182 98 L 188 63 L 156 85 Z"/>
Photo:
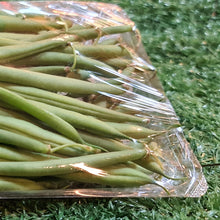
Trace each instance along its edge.
<path fill-rule="evenodd" d="M 132 30 L 0 14 L 0 191 L 44 190 L 62 181 L 154 184 L 168 193 L 152 174 L 169 176 L 146 145 L 164 131 L 148 128 L 140 115 L 85 101 L 126 92 L 112 71 L 135 71 L 134 52 L 118 37 Z"/>

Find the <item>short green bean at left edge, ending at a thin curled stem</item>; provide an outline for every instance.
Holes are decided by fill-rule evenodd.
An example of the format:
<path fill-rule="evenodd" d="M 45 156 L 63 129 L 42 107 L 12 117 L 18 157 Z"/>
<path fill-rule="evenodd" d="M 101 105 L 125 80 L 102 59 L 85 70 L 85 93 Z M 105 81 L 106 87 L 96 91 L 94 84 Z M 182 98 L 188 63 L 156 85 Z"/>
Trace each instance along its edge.
<path fill-rule="evenodd" d="M 0 129 L 0 143 L 14 145 L 30 151 L 49 153 L 50 146 L 33 138 Z"/>

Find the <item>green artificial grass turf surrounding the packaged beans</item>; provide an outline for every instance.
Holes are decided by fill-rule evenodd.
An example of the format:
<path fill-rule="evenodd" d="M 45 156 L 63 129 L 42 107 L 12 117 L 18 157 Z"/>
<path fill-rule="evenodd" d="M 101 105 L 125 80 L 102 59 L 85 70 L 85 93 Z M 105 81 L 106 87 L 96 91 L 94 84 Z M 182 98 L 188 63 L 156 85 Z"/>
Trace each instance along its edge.
<path fill-rule="evenodd" d="M 201 198 L 1 200 L 1 219 L 220 219 L 220 4 L 123 0 L 185 137 L 203 166 Z"/>

